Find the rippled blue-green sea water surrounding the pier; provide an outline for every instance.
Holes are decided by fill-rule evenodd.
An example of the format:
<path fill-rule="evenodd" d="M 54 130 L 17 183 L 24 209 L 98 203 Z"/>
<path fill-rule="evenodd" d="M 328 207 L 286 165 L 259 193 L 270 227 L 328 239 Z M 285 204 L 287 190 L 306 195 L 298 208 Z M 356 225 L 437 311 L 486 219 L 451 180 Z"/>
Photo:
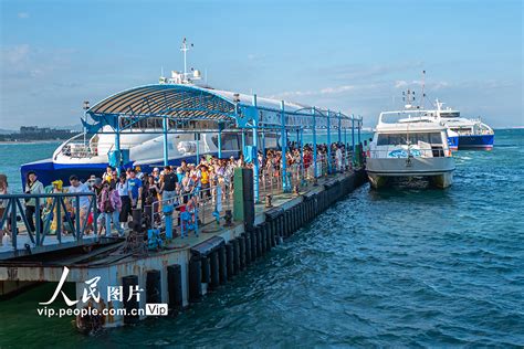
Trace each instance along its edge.
<path fill-rule="evenodd" d="M 523 139 L 459 151 L 447 190 L 356 190 L 176 318 L 83 336 L 34 288 L 0 303 L 0 347 L 522 347 Z"/>

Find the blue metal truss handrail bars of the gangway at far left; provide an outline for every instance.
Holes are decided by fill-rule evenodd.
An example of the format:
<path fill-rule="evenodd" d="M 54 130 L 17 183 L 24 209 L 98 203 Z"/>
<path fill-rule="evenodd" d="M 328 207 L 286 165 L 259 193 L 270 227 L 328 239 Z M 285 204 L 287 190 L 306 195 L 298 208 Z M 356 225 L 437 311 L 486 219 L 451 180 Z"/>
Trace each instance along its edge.
<path fill-rule="evenodd" d="M 91 198 L 87 207 L 87 212 L 83 222 L 80 220 L 80 198 Z M 75 214 L 74 222 L 67 212 L 67 205 L 64 199 L 74 199 L 74 208 L 72 209 Z M 51 199 L 51 202 L 45 202 L 42 199 Z M 62 235 L 64 232 L 64 223 L 69 223 L 72 229 L 72 235 L 76 241 L 81 241 L 84 235 L 84 230 L 87 226 L 90 214 L 93 213 L 93 231 L 97 231 L 97 202 L 95 193 L 42 193 L 42 194 L 1 194 L 0 200 L 6 200 L 6 211 L 3 216 L 0 218 L 0 230 L 6 231 L 4 225 L 8 225 L 8 232 L 11 234 L 11 243 L 14 250 L 18 250 L 18 236 L 19 232 L 19 219 L 23 222 L 23 226 L 28 233 L 29 239 L 33 246 L 42 246 L 45 236 L 51 233 L 51 224 L 56 220 L 56 240 L 59 244 L 62 243 Z M 23 209 L 22 200 L 29 201 L 34 200 L 34 232 L 31 231 L 29 224 L 29 218 Z M 44 207 L 50 209 L 44 211 Z M 42 218 L 42 213 L 45 216 Z M 64 220 L 65 218 L 65 220 Z M 32 220 L 32 218 L 31 218 Z M 34 235 L 33 235 L 34 234 Z"/>

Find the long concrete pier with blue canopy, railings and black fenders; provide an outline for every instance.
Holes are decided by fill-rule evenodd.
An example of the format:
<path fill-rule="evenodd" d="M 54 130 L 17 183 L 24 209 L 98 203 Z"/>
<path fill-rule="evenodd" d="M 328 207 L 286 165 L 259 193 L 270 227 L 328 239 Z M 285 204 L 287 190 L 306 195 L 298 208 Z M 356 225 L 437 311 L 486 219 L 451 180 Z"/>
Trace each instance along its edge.
<path fill-rule="evenodd" d="M 132 314 L 132 310 L 144 309 L 146 304 L 167 304 L 169 311 L 176 314 L 200 302 L 208 292 L 230 282 L 366 181 L 361 118 L 339 112 L 256 95 L 159 84 L 111 96 L 90 108 L 86 115 L 93 121 L 84 121 L 91 133 L 102 129 L 107 133 L 109 127 L 109 133 L 115 135 L 115 149 L 108 158 L 118 170 L 136 165 L 126 162 L 128 156 L 119 142 L 122 133 L 134 131 L 132 126 L 138 123 L 158 119 L 163 120 L 160 161 L 165 166 L 172 163 L 169 134 L 191 133 L 198 139 L 206 131 L 219 135 L 216 154 L 219 159 L 224 156 L 222 133 L 241 134 L 238 155 L 244 162 L 234 170 L 234 190 L 222 193 L 222 188 L 214 186 L 207 189 L 209 195 L 197 193 L 192 213 L 181 195 L 134 210 L 126 237 L 85 234 L 90 213 L 94 215 L 96 232 L 94 195 L 84 221 L 59 219 L 54 234 L 50 232 L 51 222 L 39 222 L 39 219 L 32 233 L 21 202 L 36 200 L 40 207 L 40 200 L 51 200 L 50 211 L 62 216 L 61 210 L 65 212 L 71 199 L 75 216 L 82 218 L 78 214 L 82 194 L 0 197 L 9 201 L 9 214 L 1 218 L 0 228 L 10 222 L 12 235 L 11 243 L 0 250 L 0 295 L 34 283 L 59 283 L 59 287 L 65 282 L 75 283 L 76 300 L 71 300 L 71 306 L 80 310 L 112 310 L 104 316 L 77 316 L 76 327 L 85 331 L 136 322 L 145 314 Z M 327 134 L 325 152 L 317 150 L 318 130 Z M 310 131 L 313 139 L 310 162 L 304 160 L 304 131 Z M 259 157 L 265 156 L 264 138 L 269 134 L 279 134 L 279 151 L 284 159 L 275 173 L 268 173 L 259 163 Z M 189 151 L 197 163 L 200 155 L 209 152 L 198 145 Z M 96 151 L 96 145 L 84 144 L 83 149 L 82 155 L 87 156 Z M 287 167 L 286 152 L 291 150 L 298 160 Z M 69 234 L 64 233 L 64 225 L 70 226 Z M 112 295 L 109 289 L 115 287 L 120 292 Z M 86 297 L 87 289 L 99 290 L 97 297 L 92 298 L 91 293 Z M 133 297 L 133 289 L 139 296 Z M 59 288 L 56 296 L 61 297 Z M 45 299 L 42 302 L 46 304 Z"/>

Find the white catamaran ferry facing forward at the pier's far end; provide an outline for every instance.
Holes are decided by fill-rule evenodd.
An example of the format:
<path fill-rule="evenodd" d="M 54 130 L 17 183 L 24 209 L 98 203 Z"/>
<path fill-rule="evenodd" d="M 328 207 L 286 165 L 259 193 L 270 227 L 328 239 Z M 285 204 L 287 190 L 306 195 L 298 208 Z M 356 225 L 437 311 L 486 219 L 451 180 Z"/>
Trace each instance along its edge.
<path fill-rule="evenodd" d="M 428 110 L 380 113 L 366 159 L 373 188 L 397 179 L 428 179 L 438 188 L 451 186 L 455 166 L 447 127 L 428 114 Z M 386 120 L 395 117 L 392 123 Z"/>

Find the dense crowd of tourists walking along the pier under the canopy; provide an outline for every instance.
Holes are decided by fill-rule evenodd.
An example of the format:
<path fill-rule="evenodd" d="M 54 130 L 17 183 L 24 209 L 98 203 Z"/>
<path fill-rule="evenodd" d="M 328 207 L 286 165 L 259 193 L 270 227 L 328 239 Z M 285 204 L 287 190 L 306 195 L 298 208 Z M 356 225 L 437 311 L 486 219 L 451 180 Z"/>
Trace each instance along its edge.
<path fill-rule="evenodd" d="M 332 170 L 344 171 L 350 166 L 349 161 L 346 161 L 346 146 L 333 144 L 331 147 Z M 318 145 L 316 177 L 327 173 L 327 145 Z M 301 149 L 296 142 L 290 142 L 285 156 L 289 180 L 314 178 L 313 159 L 312 145 L 305 145 Z M 263 184 L 282 181 L 282 151 L 275 149 L 269 149 L 265 154 L 259 151 L 256 161 Z M 160 212 L 161 204 L 165 202 L 198 207 L 203 202 L 216 204 L 231 199 L 234 169 L 238 167 L 252 168 L 253 161 L 244 161 L 243 156 L 239 159 L 202 156 L 198 163 L 188 163 L 182 160 L 178 167 L 154 168 L 150 173 L 143 172 L 139 167 L 136 167 L 122 170 L 118 174 L 115 168 L 107 167 L 104 173 L 93 174 L 85 182 L 73 174 L 69 178 L 69 186 L 62 180 L 55 180 L 49 187 L 44 187 L 39 181 L 36 172 L 30 171 L 25 178 L 24 193 L 67 192 L 80 195 L 71 195 L 64 200 L 65 211 L 53 203 L 53 198 L 41 200 L 40 210 L 36 210 L 34 198 L 27 199 L 28 229 L 34 232 L 35 220 L 40 220 L 41 226 L 49 226 L 51 233 L 59 229 L 59 224 L 62 224 L 63 233 L 67 234 L 74 231 L 74 225 L 77 224 L 75 222 L 80 220 L 85 235 L 119 234 L 123 236 L 132 219 L 133 209 L 144 210 L 144 208 L 153 207 L 151 210 L 157 213 Z M 0 194 L 9 193 L 8 188 L 7 177 L 0 174 Z M 40 216 L 36 216 L 38 211 L 41 212 Z M 0 218 L 4 214 L 8 214 L 7 200 L 0 200 Z M 62 216 L 59 218 L 59 214 Z M 95 216 L 97 216 L 98 226 L 96 232 L 93 224 Z M 9 231 L 9 226 L 7 228 Z"/>

